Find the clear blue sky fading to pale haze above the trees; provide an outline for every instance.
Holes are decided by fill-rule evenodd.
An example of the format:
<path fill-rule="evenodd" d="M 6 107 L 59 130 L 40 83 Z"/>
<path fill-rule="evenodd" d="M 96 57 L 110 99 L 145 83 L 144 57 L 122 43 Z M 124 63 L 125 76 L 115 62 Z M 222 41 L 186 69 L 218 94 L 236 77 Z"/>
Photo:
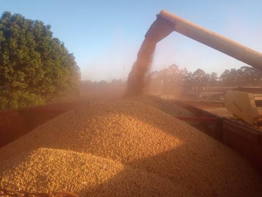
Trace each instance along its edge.
<path fill-rule="evenodd" d="M 262 52 L 262 0 L 0 0 L 0 13 L 50 24 L 91 81 L 126 80 L 162 9 Z M 176 32 L 157 44 L 151 70 L 172 64 L 218 74 L 247 66 Z"/>

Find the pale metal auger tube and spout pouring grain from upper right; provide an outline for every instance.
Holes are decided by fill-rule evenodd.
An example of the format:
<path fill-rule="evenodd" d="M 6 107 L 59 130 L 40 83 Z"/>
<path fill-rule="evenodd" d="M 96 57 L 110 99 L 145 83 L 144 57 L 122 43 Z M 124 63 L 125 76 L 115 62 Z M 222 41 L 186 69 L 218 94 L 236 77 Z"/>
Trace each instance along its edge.
<path fill-rule="evenodd" d="M 151 25 L 145 37 L 146 39 L 153 39 L 158 42 L 173 31 L 181 33 L 243 63 L 262 70 L 262 53 L 218 33 L 206 30 L 166 10 L 162 10 L 157 15 L 157 19 Z"/>

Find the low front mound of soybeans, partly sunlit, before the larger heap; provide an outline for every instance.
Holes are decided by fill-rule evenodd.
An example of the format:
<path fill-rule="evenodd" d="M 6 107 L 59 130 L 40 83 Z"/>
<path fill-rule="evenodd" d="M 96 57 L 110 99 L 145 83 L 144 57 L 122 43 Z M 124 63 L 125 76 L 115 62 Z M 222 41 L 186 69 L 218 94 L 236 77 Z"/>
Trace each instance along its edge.
<path fill-rule="evenodd" d="M 92 154 L 39 148 L 26 159 L 23 156 L 5 161 L 21 162 L 2 178 L 5 187 L 12 184 L 16 190 L 45 193 L 66 190 L 87 197 L 171 196 L 177 192 L 164 177 Z"/>

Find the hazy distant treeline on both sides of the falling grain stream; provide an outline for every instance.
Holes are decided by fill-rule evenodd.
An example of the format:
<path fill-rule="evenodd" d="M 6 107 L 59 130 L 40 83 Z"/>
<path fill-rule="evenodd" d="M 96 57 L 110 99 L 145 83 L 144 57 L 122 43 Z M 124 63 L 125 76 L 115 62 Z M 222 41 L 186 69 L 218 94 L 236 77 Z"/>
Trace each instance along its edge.
<path fill-rule="evenodd" d="M 262 71 L 242 66 L 239 69 L 226 69 L 220 76 L 217 73 L 206 73 L 202 69 L 189 72 L 186 68 L 179 69 L 171 65 L 162 70 L 147 73 L 147 94 L 175 94 L 179 95 L 183 87 L 194 86 L 262 86 Z M 126 82 L 114 79 L 112 82 L 90 80 L 81 82 L 81 95 L 86 97 L 114 97 L 124 94 Z"/>

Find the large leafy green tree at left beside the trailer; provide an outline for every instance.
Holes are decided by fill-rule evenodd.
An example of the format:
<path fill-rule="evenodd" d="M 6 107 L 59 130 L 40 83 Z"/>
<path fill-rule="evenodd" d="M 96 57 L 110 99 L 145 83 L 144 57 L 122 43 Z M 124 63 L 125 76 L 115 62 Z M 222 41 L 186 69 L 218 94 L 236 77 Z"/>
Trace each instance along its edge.
<path fill-rule="evenodd" d="M 80 69 L 50 25 L 21 14 L 0 17 L 0 109 L 64 99 L 77 92 Z"/>

